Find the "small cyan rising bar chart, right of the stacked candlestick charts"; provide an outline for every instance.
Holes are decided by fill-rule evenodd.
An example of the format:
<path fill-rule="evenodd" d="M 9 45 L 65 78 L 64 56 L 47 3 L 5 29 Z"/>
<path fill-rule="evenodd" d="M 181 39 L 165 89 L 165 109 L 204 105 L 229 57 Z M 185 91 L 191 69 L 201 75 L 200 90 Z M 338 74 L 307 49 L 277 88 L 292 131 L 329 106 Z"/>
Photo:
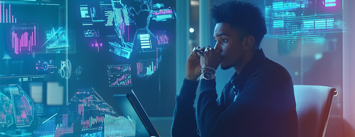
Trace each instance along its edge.
<path fill-rule="evenodd" d="M 149 77 L 158 69 L 157 60 L 141 60 L 137 61 L 138 77 Z"/>

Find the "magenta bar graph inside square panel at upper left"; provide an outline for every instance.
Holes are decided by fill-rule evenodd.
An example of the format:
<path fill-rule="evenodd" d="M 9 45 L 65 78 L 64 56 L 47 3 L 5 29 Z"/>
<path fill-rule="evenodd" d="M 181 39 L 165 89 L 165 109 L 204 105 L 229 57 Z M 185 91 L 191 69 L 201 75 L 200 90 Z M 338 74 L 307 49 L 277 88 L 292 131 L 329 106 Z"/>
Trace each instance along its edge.
<path fill-rule="evenodd" d="M 30 35 L 28 32 L 21 34 L 20 39 L 18 39 L 17 33 L 12 31 L 12 48 L 14 48 L 15 54 L 22 51 L 22 47 L 28 47 L 28 51 L 32 52 L 32 46 L 36 46 L 36 26 L 34 26 L 34 33 Z"/>

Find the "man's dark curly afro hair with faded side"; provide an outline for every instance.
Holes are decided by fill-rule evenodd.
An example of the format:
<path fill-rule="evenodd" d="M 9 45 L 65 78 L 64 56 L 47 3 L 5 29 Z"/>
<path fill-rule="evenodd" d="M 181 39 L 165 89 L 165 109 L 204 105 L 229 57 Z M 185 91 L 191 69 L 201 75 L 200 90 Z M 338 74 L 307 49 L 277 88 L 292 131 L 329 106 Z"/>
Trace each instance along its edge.
<path fill-rule="evenodd" d="M 241 39 L 252 35 L 256 49 L 267 32 L 260 9 L 249 1 L 217 1 L 211 6 L 210 15 L 215 23 L 229 23 L 231 28 L 239 32 Z"/>

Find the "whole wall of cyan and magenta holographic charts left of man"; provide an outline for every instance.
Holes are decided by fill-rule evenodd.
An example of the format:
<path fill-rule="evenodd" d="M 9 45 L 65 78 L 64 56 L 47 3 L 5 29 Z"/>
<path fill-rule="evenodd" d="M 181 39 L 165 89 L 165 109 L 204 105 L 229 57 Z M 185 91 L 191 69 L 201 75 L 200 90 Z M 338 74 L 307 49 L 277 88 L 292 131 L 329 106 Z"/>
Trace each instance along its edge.
<path fill-rule="evenodd" d="M 4 106 L 0 136 L 143 134 L 133 118 L 108 105 L 115 102 L 106 103 L 94 89 L 81 88 L 95 86 L 104 98 L 121 89 L 135 88 L 137 94 L 152 97 L 158 96 L 155 91 L 167 90 L 153 78 L 160 77 L 158 66 L 174 69 L 160 62 L 175 60 L 170 52 L 176 41 L 175 4 L 175 0 L 0 0 L 0 106 Z M 15 85 L 22 91 L 20 87 L 18 93 L 6 91 Z M 168 108 L 158 103 L 147 107 Z"/>

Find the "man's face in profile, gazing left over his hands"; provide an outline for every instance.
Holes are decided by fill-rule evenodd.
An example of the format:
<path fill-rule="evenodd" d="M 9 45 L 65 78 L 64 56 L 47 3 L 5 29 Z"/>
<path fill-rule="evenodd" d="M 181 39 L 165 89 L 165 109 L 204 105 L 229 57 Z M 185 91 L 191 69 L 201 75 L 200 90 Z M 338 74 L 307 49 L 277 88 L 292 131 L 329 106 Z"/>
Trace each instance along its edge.
<path fill-rule="evenodd" d="M 244 59 L 245 50 L 239 33 L 230 28 L 229 23 L 217 23 L 213 36 L 216 41 L 214 49 L 221 52 L 221 69 L 227 70 L 240 64 Z"/>

